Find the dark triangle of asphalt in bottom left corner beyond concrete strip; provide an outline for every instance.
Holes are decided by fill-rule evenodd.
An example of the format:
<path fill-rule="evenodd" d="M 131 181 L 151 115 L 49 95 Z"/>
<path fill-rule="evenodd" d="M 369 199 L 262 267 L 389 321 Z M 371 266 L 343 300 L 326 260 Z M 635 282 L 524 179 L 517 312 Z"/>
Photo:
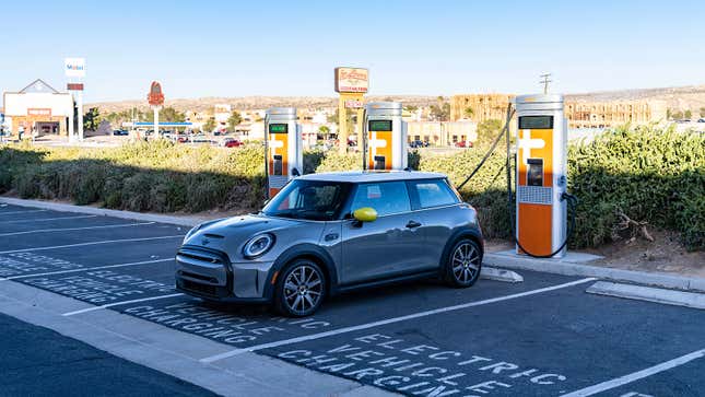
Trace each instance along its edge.
<path fill-rule="evenodd" d="M 2 314 L 0 329 L 0 396 L 215 396 Z"/>

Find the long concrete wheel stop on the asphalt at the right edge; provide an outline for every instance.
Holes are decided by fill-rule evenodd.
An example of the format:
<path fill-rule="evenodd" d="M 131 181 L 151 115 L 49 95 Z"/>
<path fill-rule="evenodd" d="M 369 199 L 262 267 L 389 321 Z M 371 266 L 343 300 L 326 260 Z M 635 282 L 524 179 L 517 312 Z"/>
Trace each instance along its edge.
<path fill-rule="evenodd" d="M 663 290 L 660 288 L 620 284 L 615 282 L 598 281 L 590 285 L 585 292 L 616 296 L 630 300 L 656 302 L 667 305 L 685 306 L 692 308 L 705 310 L 705 294 Z"/>

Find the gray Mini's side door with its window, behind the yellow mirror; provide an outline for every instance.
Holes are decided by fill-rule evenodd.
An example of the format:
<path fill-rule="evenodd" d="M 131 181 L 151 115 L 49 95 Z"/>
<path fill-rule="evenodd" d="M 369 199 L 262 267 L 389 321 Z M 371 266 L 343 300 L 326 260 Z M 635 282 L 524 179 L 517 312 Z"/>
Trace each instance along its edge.
<path fill-rule="evenodd" d="M 371 207 L 377 220 L 342 225 L 342 283 L 384 279 L 418 270 L 423 260 L 424 235 L 411 211 L 403 182 L 357 185 L 351 210 Z"/>

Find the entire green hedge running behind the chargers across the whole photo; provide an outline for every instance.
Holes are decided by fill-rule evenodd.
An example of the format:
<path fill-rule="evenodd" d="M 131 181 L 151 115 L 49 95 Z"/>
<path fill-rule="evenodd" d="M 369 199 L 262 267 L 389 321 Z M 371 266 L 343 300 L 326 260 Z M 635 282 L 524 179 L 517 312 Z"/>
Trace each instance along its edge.
<path fill-rule="evenodd" d="M 442 172 L 458 185 L 486 147 L 448 155 L 409 154 L 410 166 Z M 461 190 L 479 210 L 487 237 L 510 237 L 504 147 Z M 304 173 L 360 170 L 359 153 L 312 151 Z M 513 171 L 514 172 L 514 171 Z M 514 174 L 513 174 L 514 175 Z M 653 127 L 619 128 L 568 148 L 568 187 L 580 205 L 572 247 L 610 242 L 623 212 L 678 231 L 691 249 L 705 248 L 705 137 Z M 263 151 L 190 147 L 166 141 L 113 149 L 0 149 L 0 192 L 69 199 L 133 211 L 251 211 L 265 197 Z"/>

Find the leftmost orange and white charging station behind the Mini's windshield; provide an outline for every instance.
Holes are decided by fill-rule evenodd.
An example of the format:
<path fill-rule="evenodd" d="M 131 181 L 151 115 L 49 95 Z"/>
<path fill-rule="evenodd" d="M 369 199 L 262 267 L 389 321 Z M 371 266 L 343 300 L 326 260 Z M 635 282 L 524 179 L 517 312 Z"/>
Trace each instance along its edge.
<path fill-rule="evenodd" d="M 267 192 L 273 197 L 299 176 L 304 165 L 304 141 L 296 124 L 295 107 L 272 107 L 265 117 Z"/>

